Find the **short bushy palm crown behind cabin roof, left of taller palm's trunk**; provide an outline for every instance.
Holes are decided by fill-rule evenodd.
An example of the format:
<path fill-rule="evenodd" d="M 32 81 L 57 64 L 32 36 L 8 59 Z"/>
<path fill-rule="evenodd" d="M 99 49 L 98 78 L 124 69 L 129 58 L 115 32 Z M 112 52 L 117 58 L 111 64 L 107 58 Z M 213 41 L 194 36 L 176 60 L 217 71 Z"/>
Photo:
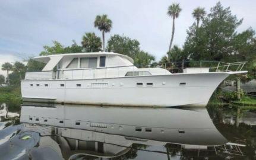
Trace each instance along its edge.
<path fill-rule="evenodd" d="M 102 41 L 95 33 L 86 33 L 81 42 L 85 52 L 99 52 Z"/>

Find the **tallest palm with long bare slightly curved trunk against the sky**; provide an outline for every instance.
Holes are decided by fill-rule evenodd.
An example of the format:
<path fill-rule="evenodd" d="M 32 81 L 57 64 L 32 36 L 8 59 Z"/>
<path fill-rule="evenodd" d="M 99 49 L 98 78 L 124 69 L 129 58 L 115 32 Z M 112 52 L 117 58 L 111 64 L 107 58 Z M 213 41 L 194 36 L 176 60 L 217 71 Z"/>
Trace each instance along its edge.
<path fill-rule="evenodd" d="M 181 8 L 179 7 L 179 4 L 172 4 L 168 7 L 167 14 L 172 17 L 172 39 L 170 39 L 170 46 L 169 50 L 172 48 L 172 41 L 175 31 L 175 18 L 179 17 L 179 12 L 181 12 Z"/>

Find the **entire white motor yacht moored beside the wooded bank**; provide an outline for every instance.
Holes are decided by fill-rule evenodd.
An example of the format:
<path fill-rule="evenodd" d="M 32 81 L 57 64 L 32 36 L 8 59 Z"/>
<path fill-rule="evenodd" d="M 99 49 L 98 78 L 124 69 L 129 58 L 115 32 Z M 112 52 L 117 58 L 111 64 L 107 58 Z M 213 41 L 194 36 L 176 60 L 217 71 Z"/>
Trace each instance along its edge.
<path fill-rule="evenodd" d="M 25 101 L 172 107 L 205 106 L 227 76 L 242 63 L 227 63 L 225 71 L 186 68 L 170 73 L 163 68 L 137 68 L 131 57 L 118 53 L 69 53 L 34 57 L 46 63 L 42 72 L 27 72 L 21 81 Z M 220 64 L 220 63 L 219 63 Z M 239 65 L 235 72 L 230 66 Z"/>

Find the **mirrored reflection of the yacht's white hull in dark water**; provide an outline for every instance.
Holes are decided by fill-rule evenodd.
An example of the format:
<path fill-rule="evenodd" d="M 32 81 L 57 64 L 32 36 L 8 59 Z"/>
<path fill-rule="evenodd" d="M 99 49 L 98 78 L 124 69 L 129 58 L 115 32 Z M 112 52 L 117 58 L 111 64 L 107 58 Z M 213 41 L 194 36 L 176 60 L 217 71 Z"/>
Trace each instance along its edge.
<path fill-rule="evenodd" d="M 21 122 L 93 130 L 166 143 L 215 146 L 227 142 L 214 126 L 206 108 L 186 110 L 59 104 L 55 107 L 23 105 Z"/>

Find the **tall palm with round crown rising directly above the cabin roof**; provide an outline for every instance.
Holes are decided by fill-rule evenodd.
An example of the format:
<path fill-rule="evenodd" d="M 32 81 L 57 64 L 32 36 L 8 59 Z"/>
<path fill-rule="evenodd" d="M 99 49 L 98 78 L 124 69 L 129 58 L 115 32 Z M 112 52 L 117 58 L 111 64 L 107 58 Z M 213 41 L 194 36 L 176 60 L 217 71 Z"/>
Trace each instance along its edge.
<path fill-rule="evenodd" d="M 105 32 L 109 32 L 112 28 L 112 21 L 108 18 L 108 15 L 97 15 L 94 21 L 94 27 L 97 27 L 102 31 L 102 49 L 105 51 Z"/>

